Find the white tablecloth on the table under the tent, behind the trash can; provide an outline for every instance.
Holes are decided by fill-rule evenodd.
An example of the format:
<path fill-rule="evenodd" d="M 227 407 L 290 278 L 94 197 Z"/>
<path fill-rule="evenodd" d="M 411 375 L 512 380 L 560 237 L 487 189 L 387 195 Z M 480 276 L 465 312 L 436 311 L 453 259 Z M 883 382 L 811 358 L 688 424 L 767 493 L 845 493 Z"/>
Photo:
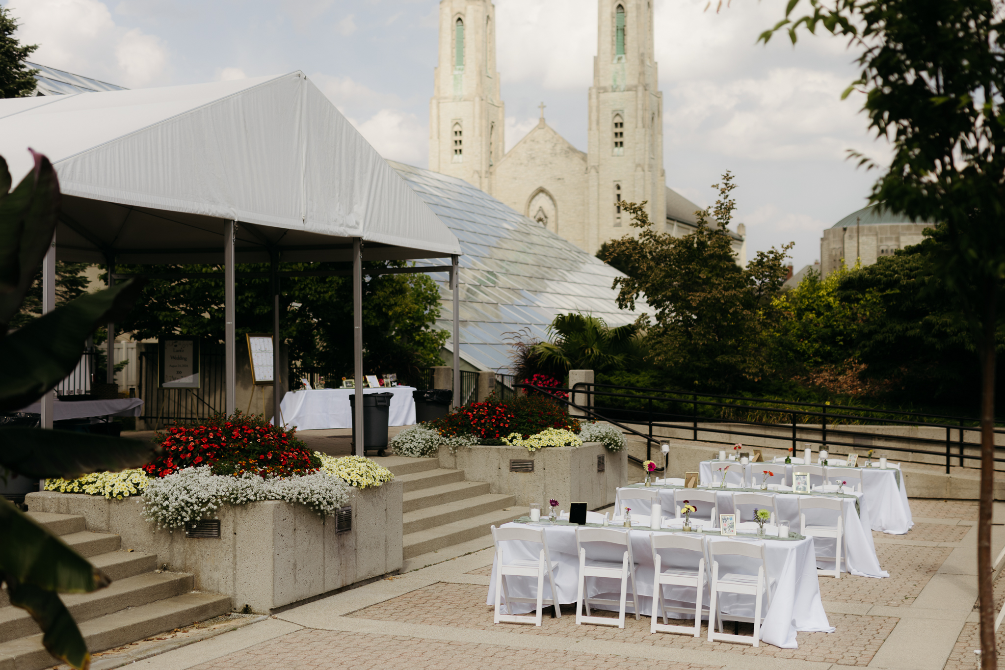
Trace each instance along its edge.
<path fill-rule="evenodd" d="M 410 386 L 392 386 L 386 389 L 364 389 L 363 393 L 393 393 L 387 425 L 410 426 L 415 423 L 413 391 L 415 388 Z M 355 389 L 289 391 L 279 403 L 282 422 L 287 426 L 296 426 L 297 430 L 352 428 L 353 415 L 349 396 L 355 393 Z"/>

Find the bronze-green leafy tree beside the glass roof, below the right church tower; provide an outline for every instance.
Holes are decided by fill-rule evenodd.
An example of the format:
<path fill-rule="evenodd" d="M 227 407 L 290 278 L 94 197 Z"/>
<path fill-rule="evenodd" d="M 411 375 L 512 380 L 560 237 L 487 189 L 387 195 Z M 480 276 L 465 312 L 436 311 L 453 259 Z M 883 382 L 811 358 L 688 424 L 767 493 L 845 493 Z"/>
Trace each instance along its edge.
<path fill-rule="evenodd" d="M 638 237 L 611 241 L 608 255 L 624 259 L 628 275 L 613 283 L 618 306 L 634 308 L 644 295 L 655 309 L 647 360 L 685 387 L 731 390 L 771 370 L 765 336 L 777 318 L 772 298 L 785 281 L 792 244 L 759 251 L 740 267 L 727 231 L 736 210 L 733 175 L 713 188 L 720 192 L 715 206 L 695 212 L 697 228 L 683 237 L 654 230 L 645 203 L 621 203 Z"/>

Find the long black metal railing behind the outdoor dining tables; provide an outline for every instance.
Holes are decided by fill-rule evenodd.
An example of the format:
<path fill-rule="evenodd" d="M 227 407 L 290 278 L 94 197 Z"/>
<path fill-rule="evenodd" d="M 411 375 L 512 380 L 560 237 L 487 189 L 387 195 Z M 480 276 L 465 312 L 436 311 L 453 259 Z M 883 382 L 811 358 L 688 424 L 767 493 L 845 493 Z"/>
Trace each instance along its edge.
<path fill-rule="evenodd" d="M 922 454 L 945 458 L 946 472 L 954 459 L 960 466 L 979 461 L 980 455 L 967 453 L 968 448 L 980 449 L 980 424 L 977 419 L 941 414 L 924 414 L 902 410 L 887 410 L 829 403 L 806 403 L 766 398 L 745 398 L 717 394 L 685 394 L 665 389 L 624 387 L 612 384 L 579 383 L 572 389 L 536 387 L 516 384 L 518 388 L 540 391 L 566 391 L 568 400 L 556 398 L 575 407 L 586 416 L 607 421 L 621 430 L 646 440 L 646 457 L 651 460 L 652 446 L 663 439 L 654 436 L 654 429 L 682 433 L 683 439 L 713 443 L 730 443 L 736 438 L 753 437 L 788 444 L 795 453 L 797 443 L 828 447 L 863 449 L 875 447 L 882 451 Z M 731 424 L 731 425 L 726 425 Z M 996 424 L 1000 425 L 1000 424 Z M 646 426 L 642 432 L 632 426 Z M 848 430 L 848 426 L 862 429 Z M 934 429 L 940 437 L 893 435 L 867 429 L 871 427 Z M 755 429 L 762 429 L 754 432 Z M 769 429 L 766 432 L 763 429 Z M 784 431 L 784 433 L 783 433 Z M 945 438 L 941 433 L 945 431 Z M 996 428 L 995 434 L 1005 434 Z M 725 439 L 717 439 L 725 438 Z M 954 439 L 955 438 L 955 439 Z M 876 444 L 876 443 L 879 444 Z M 897 444 L 889 444 L 894 442 Z M 785 448 L 785 447 L 780 447 Z M 995 447 L 995 462 L 1005 463 L 1005 447 Z"/>

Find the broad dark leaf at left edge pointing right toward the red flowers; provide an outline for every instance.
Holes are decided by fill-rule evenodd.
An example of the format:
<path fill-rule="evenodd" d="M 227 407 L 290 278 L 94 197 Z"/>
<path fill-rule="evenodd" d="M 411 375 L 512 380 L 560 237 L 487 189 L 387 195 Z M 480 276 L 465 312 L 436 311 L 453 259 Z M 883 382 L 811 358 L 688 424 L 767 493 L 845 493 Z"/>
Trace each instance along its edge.
<path fill-rule="evenodd" d="M 87 472 L 118 472 L 145 465 L 150 442 L 40 428 L 0 428 L 0 465 L 26 477 L 72 479 Z"/>

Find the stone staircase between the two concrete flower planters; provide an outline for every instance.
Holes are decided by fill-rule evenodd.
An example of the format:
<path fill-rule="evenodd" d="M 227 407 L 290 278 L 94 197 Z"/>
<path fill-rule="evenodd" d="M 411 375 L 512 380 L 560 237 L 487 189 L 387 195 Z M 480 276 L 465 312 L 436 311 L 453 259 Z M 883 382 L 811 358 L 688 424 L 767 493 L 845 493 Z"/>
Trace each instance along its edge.
<path fill-rule="evenodd" d="M 436 458 L 377 459 L 404 482 L 402 550 L 404 559 L 489 535 L 529 512 L 513 495 L 490 493 L 487 482 L 467 481 L 463 470 L 439 467 Z M 488 546 L 491 541 L 485 544 Z"/>

